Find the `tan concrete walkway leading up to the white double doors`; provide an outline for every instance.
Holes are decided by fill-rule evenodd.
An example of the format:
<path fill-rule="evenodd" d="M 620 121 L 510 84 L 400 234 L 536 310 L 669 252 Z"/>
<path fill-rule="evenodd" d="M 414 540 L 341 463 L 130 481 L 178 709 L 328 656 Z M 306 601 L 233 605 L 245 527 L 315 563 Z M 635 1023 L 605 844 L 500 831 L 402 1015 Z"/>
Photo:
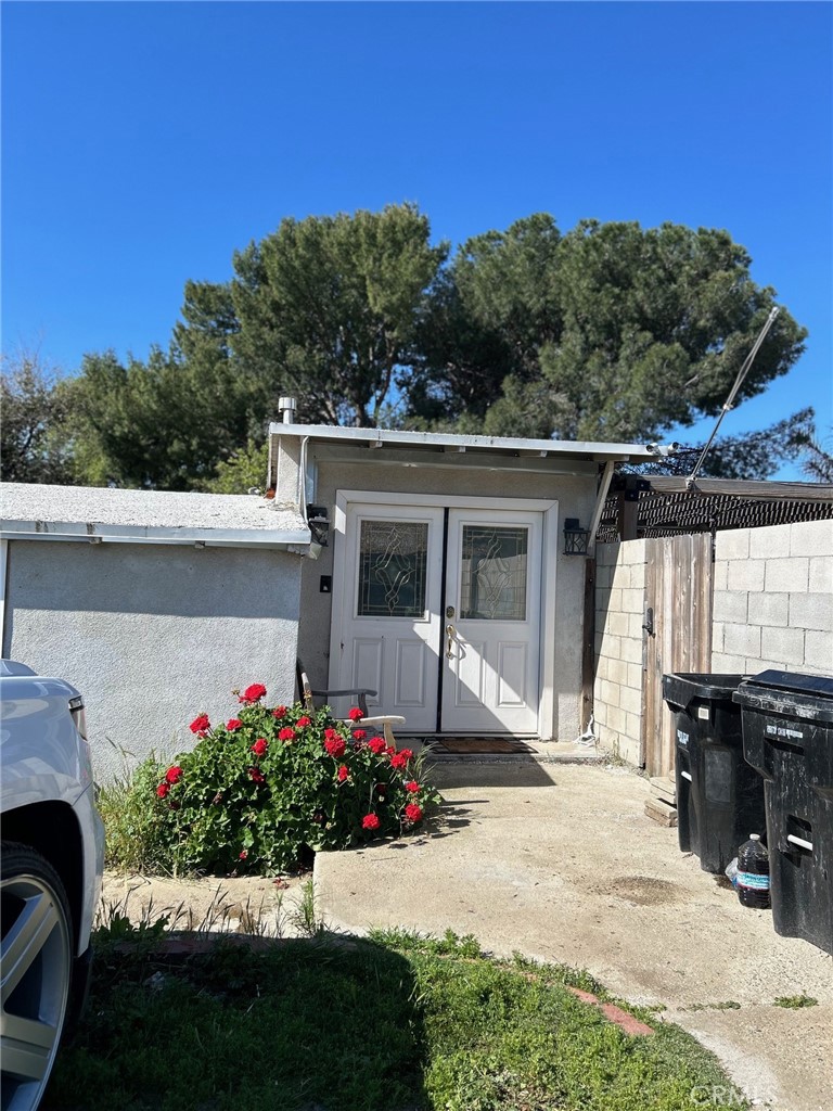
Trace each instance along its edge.
<path fill-rule="evenodd" d="M 622 999 L 664 1004 L 756 1103 L 833 1108 L 833 958 L 777 937 L 769 911 L 683 855 L 676 830 L 644 817 L 644 779 L 515 759 L 438 765 L 445 802 L 423 835 L 320 853 L 324 922 L 451 928 L 496 955 L 584 968 Z M 819 1005 L 773 1005 L 801 994 Z"/>

